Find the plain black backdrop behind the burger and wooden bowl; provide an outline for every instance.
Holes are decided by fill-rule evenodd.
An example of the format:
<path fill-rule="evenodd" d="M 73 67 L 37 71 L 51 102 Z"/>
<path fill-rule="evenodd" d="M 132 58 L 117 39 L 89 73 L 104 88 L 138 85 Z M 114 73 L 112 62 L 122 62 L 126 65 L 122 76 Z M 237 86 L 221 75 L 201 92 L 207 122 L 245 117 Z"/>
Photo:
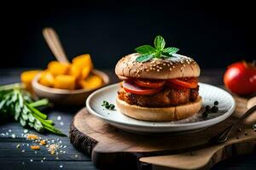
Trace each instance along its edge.
<path fill-rule="evenodd" d="M 113 68 L 139 45 L 162 35 L 204 68 L 253 60 L 255 10 L 246 1 L 9 1 L 1 5 L 1 68 L 46 67 L 55 59 L 42 29 L 54 27 L 69 59 L 90 53 Z"/>

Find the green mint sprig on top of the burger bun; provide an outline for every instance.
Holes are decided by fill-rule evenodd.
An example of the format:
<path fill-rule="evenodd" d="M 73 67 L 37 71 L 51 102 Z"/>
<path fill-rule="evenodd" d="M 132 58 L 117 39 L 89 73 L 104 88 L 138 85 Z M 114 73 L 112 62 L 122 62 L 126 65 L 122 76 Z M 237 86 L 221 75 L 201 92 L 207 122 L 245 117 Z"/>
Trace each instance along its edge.
<path fill-rule="evenodd" d="M 135 48 L 140 55 L 137 57 L 137 62 L 146 62 L 153 58 L 170 58 L 172 54 L 176 54 L 178 48 L 165 48 L 166 41 L 163 37 L 157 36 L 154 38 L 154 47 L 151 45 L 143 45 Z"/>

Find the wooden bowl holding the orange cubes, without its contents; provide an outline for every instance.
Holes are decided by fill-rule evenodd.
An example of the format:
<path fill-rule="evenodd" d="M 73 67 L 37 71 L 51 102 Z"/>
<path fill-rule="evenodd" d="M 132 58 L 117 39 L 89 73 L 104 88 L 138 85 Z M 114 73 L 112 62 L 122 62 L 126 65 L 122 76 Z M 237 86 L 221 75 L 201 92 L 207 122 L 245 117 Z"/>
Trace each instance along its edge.
<path fill-rule="evenodd" d="M 97 76 L 102 77 L 102 87 L 106 86 L 109 83 L 109 77 L 106 73 L 98 70 L 94 70 L 92 72 Z M 90 90 L 67 90 L 59 88 L 49 88 L 38 82 L 40 76 L 41 73 L 39 73 L 32 80 L 32 88 L 34 93 L 38 96 L 38 98 L 47 98 L 55 105 L 85 105 L 85 100 L 87 99 L 87 97 L 97 89 L 95 88 Z"/>

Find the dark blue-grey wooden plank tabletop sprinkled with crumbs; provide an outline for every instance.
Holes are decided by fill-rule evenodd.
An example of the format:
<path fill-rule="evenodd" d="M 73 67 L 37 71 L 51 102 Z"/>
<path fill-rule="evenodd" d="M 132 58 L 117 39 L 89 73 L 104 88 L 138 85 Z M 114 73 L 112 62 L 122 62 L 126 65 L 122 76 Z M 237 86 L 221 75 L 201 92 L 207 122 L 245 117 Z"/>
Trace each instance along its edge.
<path fill-rule="evenodd" d="M 0 85 L 20 81 L 20 72 L 25 69 L 2 69 L 0 70 Z M 111 82 L 117 82 L 113 72 L 107 71 Z M 201 82 L 211 83 L 212 85 L 222 86 L 222 76 L 224 70 L 202 70 Z M 68 134 L 69 125 L 74 114 L 81 108 L 60 108 L 54 107 L 47 111 L 49 118 L 53 119 L 55 126 L 62 132 Z M 57 117 L 61 116 L 61 120 Z M 42 147 L 35 152 L 30 149 L 32 141 L 21 138 L 23 128 L 18 122 L 8 122 L 0 124 L 0 169 L 96 169 L 90 160 L 90 156 L 75 150 L 70 144 L 68 137 L 59 137 L 55 134 L 40 134 L 32 129 L 29 133 L 38 134 L 42 139 L 55 140 L 54 142 L 62 145 L 59 150 L 58 158 L 52 156 Z M 15 134 L 15 138 L 12 135 Z M 20 144 L 20 149 L 17 149 Z M 256 154 L 250 156 L 237 156 L 227 161 L 219 162 L 212 167 L 217 169 L 256 169 Z"/>

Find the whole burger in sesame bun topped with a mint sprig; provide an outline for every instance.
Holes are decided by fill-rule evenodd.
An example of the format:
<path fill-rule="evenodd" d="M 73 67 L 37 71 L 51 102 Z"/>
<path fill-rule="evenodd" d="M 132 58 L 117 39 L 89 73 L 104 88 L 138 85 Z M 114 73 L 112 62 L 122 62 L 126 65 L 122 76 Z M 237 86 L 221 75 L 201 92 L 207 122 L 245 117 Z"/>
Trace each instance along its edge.
<path fill-rule="evenodd" d="M 143 45 L 137 53 L 119 59 L 115 73 L 122 82 L 116 99 L 119 111 L 137 120 L 177 121 L 201 109 L 200 67 L 178 48 L 165 48 L 163 37 L 154 47 Z"/>

